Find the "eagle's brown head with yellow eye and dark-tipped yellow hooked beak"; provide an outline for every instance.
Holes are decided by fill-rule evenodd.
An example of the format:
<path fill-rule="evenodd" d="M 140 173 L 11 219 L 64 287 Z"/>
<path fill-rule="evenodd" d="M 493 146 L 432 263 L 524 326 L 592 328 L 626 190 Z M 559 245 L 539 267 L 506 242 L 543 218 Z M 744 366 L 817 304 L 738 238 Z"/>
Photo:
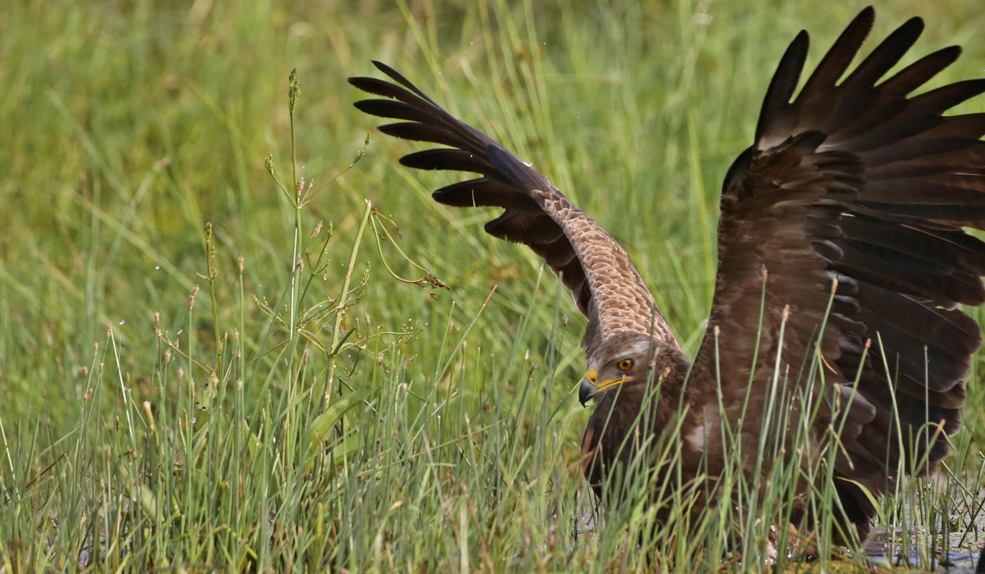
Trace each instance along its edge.
<path fill-rule="evenodd" d="M 656 337 L 636 331 L 617 333 L 599 345 L 588 358 L 588 371 L 581 379 L 578 400 L 582 406 L 589 399 L 616 391 L 642 395 L 650 373 L 659 379 L 668 369 L 676 370 L 683 353 Z M 633 392 L 638 391 L 638 392 Z"/>

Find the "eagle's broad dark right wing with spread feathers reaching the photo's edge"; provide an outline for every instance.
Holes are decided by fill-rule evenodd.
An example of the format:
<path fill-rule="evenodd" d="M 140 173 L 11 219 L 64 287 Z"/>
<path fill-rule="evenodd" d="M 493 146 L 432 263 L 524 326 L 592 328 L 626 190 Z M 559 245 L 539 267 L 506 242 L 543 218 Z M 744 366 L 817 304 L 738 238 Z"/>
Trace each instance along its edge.
<path fill-rule="evenodd" d="M 870 7 L 852 22 L 793 101 L 807 33 L 784 54 L 755 144 L 723 186 L 718 277 L 693 373 L 713 385 L 720 371 L 727 410 L 742 405 L 752 380 L 761 408 L 777 354 L 795 384 L 802 360 L 820 348 L 828 416 L 819 425 L 844 415 L 836 468 L 878 494 L 896 479 L 899 444 L 912 464 L 923 449 L 905 445 L 925 424 L 943 424 L 927 452 L 935 463 L 960 427 L 962 378 L 982 342 L 978 324 L 955 307 L 985 301 L 985 243 L 962 229 L 985 217 L 985 114 L 942 114 L 985 91 L 985 81 L 907 97 L 954 61 L 952 46 L 877 86 L 923 30 L 917 18 L 841 80 L 873 20 Z M 846 506 L 849 518 L 871 517 L 868 499 L 842 483 L 858 502 Z"/>

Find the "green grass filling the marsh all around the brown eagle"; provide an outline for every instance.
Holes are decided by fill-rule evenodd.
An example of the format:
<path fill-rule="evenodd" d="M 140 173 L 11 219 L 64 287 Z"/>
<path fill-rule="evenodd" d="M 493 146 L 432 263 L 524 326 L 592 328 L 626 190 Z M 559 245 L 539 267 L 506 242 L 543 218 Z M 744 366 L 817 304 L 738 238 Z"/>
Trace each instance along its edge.
<path fill-rule="evenodd" d="M 691 351 L 718 187 L 776 61 L 808 28 L 813 65 L 865 3 L 448 4 L 5 5 L 0 572 L 73 570 L 83 551 L 99 571 L 766 568 L 782 465 L 762 521 L 723 505 L 688 538 L 680 512 L 653 529 L 643 477 L 640 503 L 593 502 L 570 396 L 584 320 L 482 232 L 493 210 L 430 200 L 454 176 L 397 165 L 419 147 L 373 132 L 345 78 L 383 60 L 533 161 L 626 246 Z M 965 46 L 933 86 L 982 75 L 975 0 L 877 12 L 876 37 L 927 19 L 904 64 Z M 327 186 L 296 209 L 300 176 Z M 900 543 L 985 542 L 979 372 L 948 468 L 884 503 Z M 722 484 L 747 502 L 763 487 Z"/>

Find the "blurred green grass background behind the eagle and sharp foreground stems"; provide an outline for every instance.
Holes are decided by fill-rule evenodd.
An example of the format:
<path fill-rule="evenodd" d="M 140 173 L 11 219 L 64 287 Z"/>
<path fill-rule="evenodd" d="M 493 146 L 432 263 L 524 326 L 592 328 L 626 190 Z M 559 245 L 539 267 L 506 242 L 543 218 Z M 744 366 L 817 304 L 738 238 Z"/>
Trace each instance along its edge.
<path fill-rule="evenodd" d="M 493 210 L 455 212 L 429 192 L 448 173 L 410 173 L 420 146 L 378 137 L 345 79 L 370 59 L 402 71 L 463 120 L 544 172 L 624 243 L 679 337 L 693 348 L 714 278 L 722 176 L 750 142 L 773 68 L 794 34 L 812 34 L 809 67 L 862 1 L 644 2 L 5 2 L 0 18 L 0 417 L 54 429 L 80 402 L 79 371 L 112 324 L 122 370 L 149 395 L 154 311 L 177 332 L 204 281 L 202 229 L 218 238 L 220 290 L 276 300 L 289 280 L 294 212 L 266 173 L 290 181 L 287 78 L 301 78 L 302 174 L 326 182 L 305 228 L 335 224 L 345 271 L 363 199 L 401 227 L 402 249 L 447 282 L 435 301 L 374 264 L 363 321 L 420 329 L 408 355 L 430 357 L 449 313 L 475 316 L 494 357 L 511 344 L 539 261 L 482 233 Z M 965 55 L 931 86 L 982 76 L 979 0 L 879 2 L 874 36 L 920 14 L 905 61 L 952 43 Z M 875 42 L 870 42 L 866 50 Z M 821 49 L 819 49 L 821 48 Z M 981 97 L 960 111 L 985 110 Z M 956 111 L 956 110 L 955 110 Z M 362 254 L 377 260 L 365 244 Z M 384 255 L 390 254 L 384 245 Z M 396 260 L 396 259 L 394 259 Z M 398 272 L 419 276 L 406 265 Z M 540 283 L 550 303 L 553 277 Z M 573 383 L 583 322 L 573 305 L 556 384 Z M 200 298 L 209 309 L 206 298 Z M 454 301 L 454 310 L 450 303 Z M 234 306 L 232 306 L 234 308 Z M 251 306 L 252 307 L 252 306 Z M 543 309 L 541 309 L 543 307 Z M 223 310 L 224 314 L 234 309 Z M 249 321 L 264 316 L 251 311 Z M 535 306 L 531 352 L 553 305 Z M 211 341 L 210 313 L 199 316 Z M 260 329 L 256 329 L 258 332 Z M 494 384 L 494 381 L 490 381 Z M 567 387 L 564 387 L 565 389 Z M 977 394 L 978 384 L 970 384 Z M 573 403 L 573 401 L 571 401 Z M 977 403 L 976 403 L 977 404 Z M 570 405 L 571 411 L 575 410 Z M 578 417 L 586 415 L 579 414 Z M 970 418 L 970 417 L 969 417 Z"/>

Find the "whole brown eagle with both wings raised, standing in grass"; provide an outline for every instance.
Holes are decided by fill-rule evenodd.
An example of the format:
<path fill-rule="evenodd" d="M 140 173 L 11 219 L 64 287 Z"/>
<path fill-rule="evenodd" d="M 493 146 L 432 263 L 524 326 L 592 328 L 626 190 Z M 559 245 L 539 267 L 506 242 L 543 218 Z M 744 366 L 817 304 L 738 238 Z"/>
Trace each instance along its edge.
<path fill-rule="evenodd" d="M 596 403 L 583 436 L 593 485 L 628 464 L 621 445 L 638 433 L 655 379 L 645 423 L 660 431 L 682 413 L 674 420 L 685 475 L 697 461 L 708 476 L 721 470 L 724 426 L 755 452 L 763 419 L 779 415 L 770 397 L 809 393 L 809 439 L 837 434 L 838 520 L 862 540 L 876 514 L 865 490 L 879 496 L 901 470 L 926 472 L 948 454 L 982 342 L 957 305 L 985 302 L 985 242 L 964 230 L 985 229 L 985 114 L 944 113 L 985 91 L 985 80 L 910 95 L 952 64 L 958 46 L 886 78 L 923 30 L 919 18 L 849 71 L 874 19 L 863 10 L 799 92 L 806 31 L 780 59 L 753 144 L 722 184 L 714 296 L 692 360 L 623 247 L 547 178 L 384 64 L 374 62 L 396 84 L 349 80 L 384 97 L 357 108 L 401 120 L 381 132 L 446 146 L 405 155 L 403 165 L 480 174 L 434 200 L 503 208 L 486 232 L 543 258 L 588 319 L 579 397 Z M 805 386 L 805 365 L 822 380 Z M 787 418 L 776 432 L 790 444 L 801 420 Z M 926 464 L 914 470 L 913 461 Z M 791 522 L 807 512 L 795 509 Z"/>

